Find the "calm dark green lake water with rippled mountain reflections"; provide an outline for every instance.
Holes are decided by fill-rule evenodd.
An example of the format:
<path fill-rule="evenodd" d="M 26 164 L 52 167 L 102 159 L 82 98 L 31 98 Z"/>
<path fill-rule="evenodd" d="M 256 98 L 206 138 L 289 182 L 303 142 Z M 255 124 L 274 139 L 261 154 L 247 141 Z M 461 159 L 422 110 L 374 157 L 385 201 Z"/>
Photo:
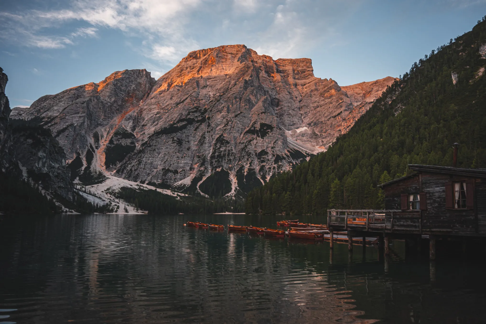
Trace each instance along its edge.
<path fill-rule="evenodd" d="M 279 219 L 0 216 L 0 323 L 486 323 L 483 261 L 183 226 Z"/>

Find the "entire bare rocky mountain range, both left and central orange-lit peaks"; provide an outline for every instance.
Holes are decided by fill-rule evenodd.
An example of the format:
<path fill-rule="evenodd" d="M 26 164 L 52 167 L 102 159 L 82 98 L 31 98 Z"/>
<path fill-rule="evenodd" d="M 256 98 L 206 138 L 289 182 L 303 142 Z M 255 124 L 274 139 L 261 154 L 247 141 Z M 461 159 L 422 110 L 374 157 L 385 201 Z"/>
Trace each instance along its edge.
<path fill-rule="evenodd" d="M 14 108 L 12 124 L 48 130 L 70 180 L 110 174 L 206 197 L 233 196 L 325 151 L 395 79 L 340 87 L 310 59 L 244 45 L 192 51 L 160 77 L 124 70 Z"/>

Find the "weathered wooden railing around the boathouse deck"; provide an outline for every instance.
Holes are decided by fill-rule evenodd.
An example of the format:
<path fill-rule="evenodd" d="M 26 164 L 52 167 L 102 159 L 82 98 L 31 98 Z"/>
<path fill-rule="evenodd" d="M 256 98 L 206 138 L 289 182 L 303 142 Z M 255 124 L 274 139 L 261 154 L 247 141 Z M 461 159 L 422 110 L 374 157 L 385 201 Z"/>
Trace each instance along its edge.
<path fill-rule="evenodd" d="M 328 228 L 366 231 L 420 231 L 420 211 L 329 209 Z"/>

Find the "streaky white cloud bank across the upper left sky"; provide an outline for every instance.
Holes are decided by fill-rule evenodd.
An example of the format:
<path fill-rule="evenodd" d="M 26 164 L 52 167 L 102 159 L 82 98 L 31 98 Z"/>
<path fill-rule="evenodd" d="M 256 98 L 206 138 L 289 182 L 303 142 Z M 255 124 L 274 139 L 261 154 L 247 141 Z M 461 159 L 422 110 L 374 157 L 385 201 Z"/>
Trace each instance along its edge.
<path fill-rule="evenodd" d="M 97 27 L 112 28 L 146 39 L 140 49 L 145 56 L 174 62 L 183 52 L 197 48 L 194 41 L 184 36 L 184 26 L 189 21 L 187 14 L 200 3 L 201 0 L 77 0 L 61 10 L 0 12 L 0 28 L 4 27 L 0 37 L 26 46 L 59 49 L 72 45 L 76 37 L 97 37 Z M 88 26 L 66 35 L 43 33 L 43 29 L 72 21 Z"/>

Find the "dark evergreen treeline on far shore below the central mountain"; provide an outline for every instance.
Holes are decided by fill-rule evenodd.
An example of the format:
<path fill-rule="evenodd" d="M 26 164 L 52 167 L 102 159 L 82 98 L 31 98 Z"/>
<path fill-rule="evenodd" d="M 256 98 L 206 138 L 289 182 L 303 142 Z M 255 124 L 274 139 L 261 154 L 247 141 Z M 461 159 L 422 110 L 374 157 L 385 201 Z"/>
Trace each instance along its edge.
<path fill-rule="evenodd" d="M 134 205 L 136 208 L 146 210 L 150 214 L 174 215 L 183 214 L 212 214 L 232 211 L 244 212 L 243 201 L 217 198 L 209 200 L 194 196 L 169 196 L 157 190 L 137 190 L 122 187 L 112 194 Z"/>

